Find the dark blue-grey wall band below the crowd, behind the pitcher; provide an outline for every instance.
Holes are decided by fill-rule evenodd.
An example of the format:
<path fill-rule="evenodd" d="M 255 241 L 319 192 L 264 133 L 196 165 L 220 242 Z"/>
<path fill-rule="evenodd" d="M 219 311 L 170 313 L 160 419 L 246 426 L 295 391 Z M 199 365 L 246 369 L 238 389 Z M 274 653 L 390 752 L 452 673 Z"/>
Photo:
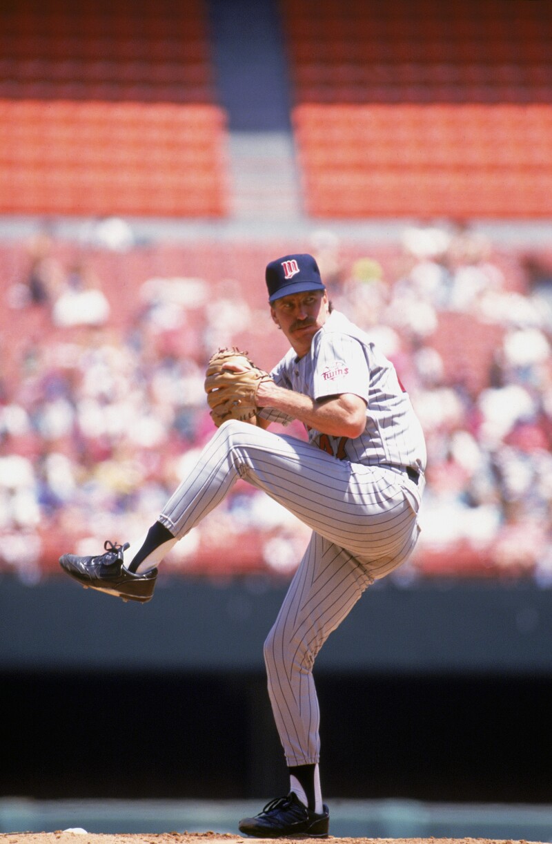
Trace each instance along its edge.
<path fill-rule="evenodd" d="M 0 579 L 0 669 L 261 671 L 285 585 L 161 580 L 122 603 L 51 578 Z M 533 583 L 389 580 L 330 636 L 317 672 L 552 674 L 552 590 Z"/>

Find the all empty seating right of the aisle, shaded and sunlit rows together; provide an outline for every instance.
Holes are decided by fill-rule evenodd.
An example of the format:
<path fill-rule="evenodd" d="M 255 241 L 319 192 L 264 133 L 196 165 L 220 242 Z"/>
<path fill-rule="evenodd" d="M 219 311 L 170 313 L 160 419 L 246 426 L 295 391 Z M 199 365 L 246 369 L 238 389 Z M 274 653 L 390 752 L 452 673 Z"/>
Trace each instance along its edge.
<path fill-rule="evenodd" d="M 548 3 L 282 9 L 308 214 L 552 214 Z"/>

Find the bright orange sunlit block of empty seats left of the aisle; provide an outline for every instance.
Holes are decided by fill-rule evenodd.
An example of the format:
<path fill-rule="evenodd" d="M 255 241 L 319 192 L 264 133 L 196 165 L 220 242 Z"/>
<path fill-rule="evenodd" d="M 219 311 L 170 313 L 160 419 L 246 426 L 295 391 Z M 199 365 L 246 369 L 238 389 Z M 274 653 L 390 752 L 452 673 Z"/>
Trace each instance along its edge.
<path fill-rule="evenodd" d="M 212 105 L 0 100 L 0 212 L 219 217 L 225 140 Z"/>

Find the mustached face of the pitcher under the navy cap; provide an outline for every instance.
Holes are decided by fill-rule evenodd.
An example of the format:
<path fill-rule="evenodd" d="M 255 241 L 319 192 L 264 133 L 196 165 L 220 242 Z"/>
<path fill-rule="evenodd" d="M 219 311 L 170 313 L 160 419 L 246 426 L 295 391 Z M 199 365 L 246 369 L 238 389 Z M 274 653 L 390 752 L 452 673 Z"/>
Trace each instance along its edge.
<path fill-rule="evenodd" d="M 295 293 L 276 299 L 271 315 L 286 335 L 297 357 L 303 358 L 310 349 L 314 334 L 324 325 L 329 314 L 328 295 L 318 290 Z"/>

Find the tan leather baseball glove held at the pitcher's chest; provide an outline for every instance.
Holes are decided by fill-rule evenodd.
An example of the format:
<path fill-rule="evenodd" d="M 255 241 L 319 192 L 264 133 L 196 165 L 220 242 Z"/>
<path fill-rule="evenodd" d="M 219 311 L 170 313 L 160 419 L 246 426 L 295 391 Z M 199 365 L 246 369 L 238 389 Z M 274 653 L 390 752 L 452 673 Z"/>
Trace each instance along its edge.
<path fill-rule="evenodd" d="M 247 352 L 234 346 L 219 349 L 211 355 L 205 392 L 211 418 L 217 428 L 227 419 L 256 424 L 258 408 L 255 397 L 261 381 L 271 381 L 271 376 L 255 366 Z"/>

